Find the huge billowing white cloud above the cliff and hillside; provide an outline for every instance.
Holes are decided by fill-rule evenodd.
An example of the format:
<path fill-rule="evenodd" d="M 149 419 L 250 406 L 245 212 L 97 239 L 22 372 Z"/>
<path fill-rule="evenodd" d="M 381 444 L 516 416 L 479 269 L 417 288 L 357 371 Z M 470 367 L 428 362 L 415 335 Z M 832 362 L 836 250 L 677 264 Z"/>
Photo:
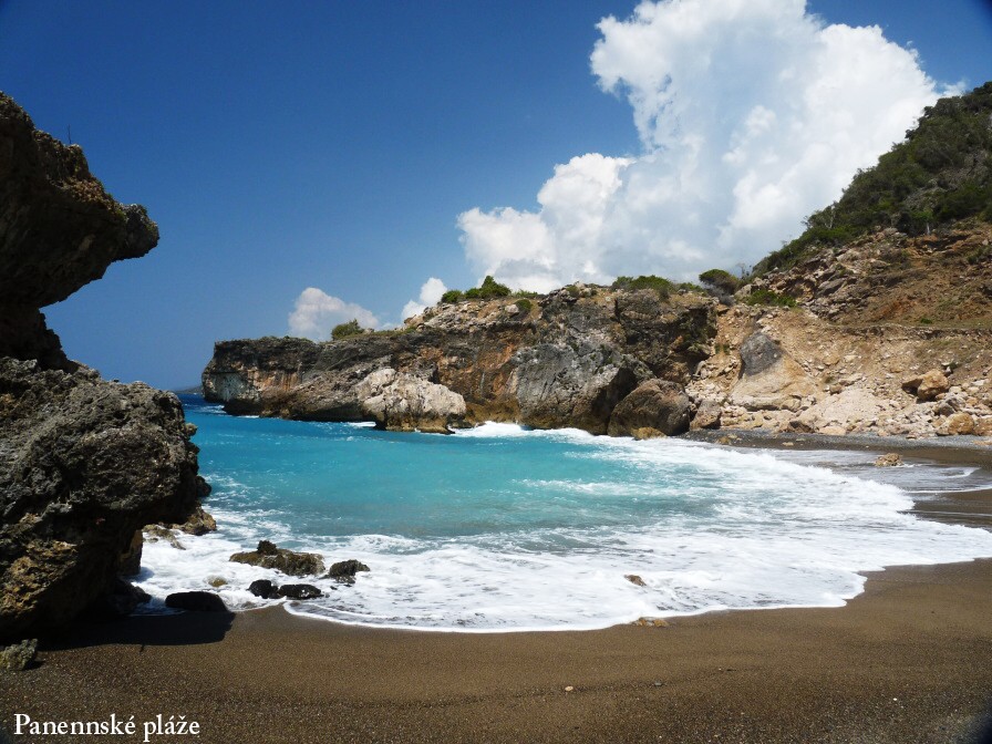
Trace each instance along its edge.
<path fill-rule="evenodd" d="M 537 211 L 463 213 L 479 276 L 541 291 L 753 264 L 938 95 L 914 51 L 803 0 L 642 2 L 598 28 L 592 72 L 630 103 L 642 151 L 556 166 Z"/>

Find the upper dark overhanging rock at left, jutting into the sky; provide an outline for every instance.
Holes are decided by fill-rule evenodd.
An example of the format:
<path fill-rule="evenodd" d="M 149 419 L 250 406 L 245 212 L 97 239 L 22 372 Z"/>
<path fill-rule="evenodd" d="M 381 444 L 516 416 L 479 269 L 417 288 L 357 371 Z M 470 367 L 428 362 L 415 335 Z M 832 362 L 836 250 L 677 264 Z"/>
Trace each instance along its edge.
<path fill-rule="evenodd" d="M 115 202 L 78 145 L 35 130 L 0 93 L 0 356 L 71 368 L 39 308 L 157 242 L 144 207 Z"/>

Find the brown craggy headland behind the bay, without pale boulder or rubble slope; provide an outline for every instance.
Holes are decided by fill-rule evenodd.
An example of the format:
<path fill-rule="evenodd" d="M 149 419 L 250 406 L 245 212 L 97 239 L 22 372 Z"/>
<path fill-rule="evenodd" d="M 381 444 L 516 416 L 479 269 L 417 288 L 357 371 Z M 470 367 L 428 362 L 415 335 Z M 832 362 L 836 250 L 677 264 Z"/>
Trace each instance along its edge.
<path fill-rule="evenodd" d="M 354 421 L 370 417 L 360 383 L 389 368 L 461 395 L 467 424 L 516 421 L 602 434 L 617 403 L 641 382 L 689 380 L 707 354 L 715 308 L 696 296 L 663 300 L 652 290 L 601 287 L 533 302 L 459 302 L 432 308 L 396 332 L 218 343 L 204 391 L 231 413 Z"/>

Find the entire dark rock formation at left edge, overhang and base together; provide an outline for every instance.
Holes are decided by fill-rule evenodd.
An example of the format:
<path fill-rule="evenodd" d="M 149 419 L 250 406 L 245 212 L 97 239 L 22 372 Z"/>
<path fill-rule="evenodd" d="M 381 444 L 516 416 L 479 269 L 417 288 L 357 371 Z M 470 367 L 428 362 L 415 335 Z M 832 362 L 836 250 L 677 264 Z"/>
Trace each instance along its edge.
<path fill-rule="evenodd" d="M 205 492 L 178 400 L 70 361 L 40 311 L 157 240 L 0 93 L 0 639 L 100 602 L 136 530 Z"/>

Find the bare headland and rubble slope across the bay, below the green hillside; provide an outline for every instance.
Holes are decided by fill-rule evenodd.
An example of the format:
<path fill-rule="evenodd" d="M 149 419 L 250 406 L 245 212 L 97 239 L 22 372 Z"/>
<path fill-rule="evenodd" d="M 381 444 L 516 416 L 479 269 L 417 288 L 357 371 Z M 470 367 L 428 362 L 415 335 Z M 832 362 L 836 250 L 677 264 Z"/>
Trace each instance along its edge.
<path fill-rule="evenodd" d="M 204 389 L 232 413 L 351 421 L 372 417 L 362 382 L 392 369 L 461 395 L 467 425 L 684 431 L 668 423 L 686 414 L 675 392 L 632 394 L 658 379 L 684 386 L 692 427 L 992 435 L 990 246 L 981 221 L 916 237 L 890 228 L 810 251 L 742 288 L 736 304 L 586 287 L 529 309 L 513 298 L 442 304 L 401 332 L 337 342 L 227 341 Z M 755 291 L 795 307 L 745 303 Z M 920 395 L 928 372 L 943 383 Z"/>

